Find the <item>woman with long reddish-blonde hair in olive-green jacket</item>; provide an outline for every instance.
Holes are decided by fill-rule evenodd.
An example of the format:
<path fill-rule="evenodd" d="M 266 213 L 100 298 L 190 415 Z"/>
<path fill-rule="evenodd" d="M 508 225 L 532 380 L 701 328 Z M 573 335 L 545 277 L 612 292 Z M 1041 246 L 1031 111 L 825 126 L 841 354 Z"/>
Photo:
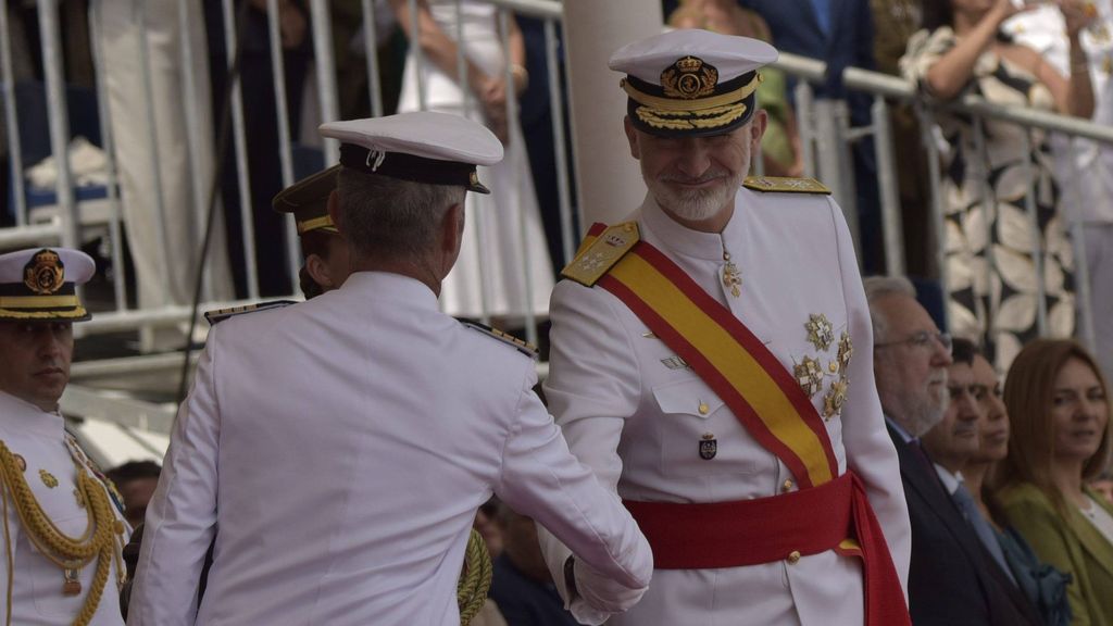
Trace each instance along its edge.
<path fill-rule="evenodd" d="M 1073 624 L 1113 626 L 1113 506 L 1086 486 L 1110 456 L 1107 388 L 1071 340 L 1036 340 L 1008 371 L 1013 436 L 994 485 L 1008 521 L 1070 574 Z"/>

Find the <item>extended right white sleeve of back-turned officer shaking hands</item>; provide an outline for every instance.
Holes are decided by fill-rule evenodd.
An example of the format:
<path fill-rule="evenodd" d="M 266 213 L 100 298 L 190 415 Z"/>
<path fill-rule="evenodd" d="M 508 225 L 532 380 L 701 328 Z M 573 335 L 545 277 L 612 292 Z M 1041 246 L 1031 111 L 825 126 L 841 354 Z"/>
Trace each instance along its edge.
<path fill-rule="evenodd" d="M 594 608 L 607 615 L 621 613 L 649 587 L 652 550 L 613 490 L 604 489 L 569 452 L 560 429 L 532 391 L 535 381 L 530 369 L 495 492 L 549 529 L 591 566 L 597 578 L 613 584 L 613 589 L 593 589 Z"/>

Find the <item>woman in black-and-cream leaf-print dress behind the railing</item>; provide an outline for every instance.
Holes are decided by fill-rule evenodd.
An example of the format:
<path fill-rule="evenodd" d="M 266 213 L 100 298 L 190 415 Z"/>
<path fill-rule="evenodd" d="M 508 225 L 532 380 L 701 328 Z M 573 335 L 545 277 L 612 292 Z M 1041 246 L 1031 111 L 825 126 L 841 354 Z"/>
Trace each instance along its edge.
<path fill-rule="evenodd" d="M 924 30 L 908 41 L 900 60 L 905 78 L 934 99 L 976 94 L 998 105 L 1089 117 L 1094 108 L 1089 72 L 1063 76 L 1035 50 L 997 37 L 1001 23 L 1020 10 L 1009 0 L 925 0 Z M 1071 58 L 1084 63 L 1077 40 L 1089 18 L 1078 0 L 1062 0 L 1060 10 Z M 947 251 L 951 331 L 984 345 L 1005 370 L 1038 333 L 1033 241 L 1042 243 L 1048 332 L 1074 331 L 1073 256 L 1050 148 L 1034 133 L 1028 150 L 1028 129 L 986 119 L 983 157 L 968 117 L 944 113 L 937 120 L 949 147 L 939 193 L 946 203 L 940 245 Z M 995 202 L 983 198 L 986 188 Z M 1035 229 L 1025 208 L 1030 194 L 1038 214 Z"/>

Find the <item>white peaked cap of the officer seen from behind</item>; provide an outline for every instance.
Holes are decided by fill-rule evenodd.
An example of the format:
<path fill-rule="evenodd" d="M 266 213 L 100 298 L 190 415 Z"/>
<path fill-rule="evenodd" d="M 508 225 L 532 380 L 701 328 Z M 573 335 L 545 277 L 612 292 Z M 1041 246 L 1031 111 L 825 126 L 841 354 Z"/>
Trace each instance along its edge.
<path fill-rule="evenodd" d="M 502 160 L 502 141 L 482 124 L 434 111 L 329 121 L 321 135 L 339 139 L 341 165 L 416 183 L 462 185 L 489 193 L 477 165 Z"/>

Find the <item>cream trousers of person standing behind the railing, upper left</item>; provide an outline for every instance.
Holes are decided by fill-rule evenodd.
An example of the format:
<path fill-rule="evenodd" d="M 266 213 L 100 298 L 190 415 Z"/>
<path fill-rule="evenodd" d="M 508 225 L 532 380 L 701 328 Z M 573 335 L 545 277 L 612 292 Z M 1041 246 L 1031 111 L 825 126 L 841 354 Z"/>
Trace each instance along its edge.
<path fill-rule="evenodd" d="M 197 2 L 186 6 L 186 23 L 176 0 L 146 1 L 141 9 L 135 0 L 93 0 L 90 8 L 99 26 L 98 70 L 108 99 L 101 106 L 111 127 L 141 309 L 193 302 L 201 262 L 215 162 L 209 71 L 219 84 L 224 67 L 209 67 L 201 8 Z M 181 57 L 183 36 L 195 52 L 188 65 Z M 193 102 L 185 90 L 187 74 L 193 76 Z M 189 116 L 190 106 L 195 117 Z M 195 159 L 190 145 L 197 150 Z M 207 261 L 215 300 L 233 295 L 224 235 L 224 225 L 215 224 Z M 234 263 L 239 265 L 239 260 Z M 185 339 L 177 329 L 144 330 L 142 348 L 178 349 Z"/>

